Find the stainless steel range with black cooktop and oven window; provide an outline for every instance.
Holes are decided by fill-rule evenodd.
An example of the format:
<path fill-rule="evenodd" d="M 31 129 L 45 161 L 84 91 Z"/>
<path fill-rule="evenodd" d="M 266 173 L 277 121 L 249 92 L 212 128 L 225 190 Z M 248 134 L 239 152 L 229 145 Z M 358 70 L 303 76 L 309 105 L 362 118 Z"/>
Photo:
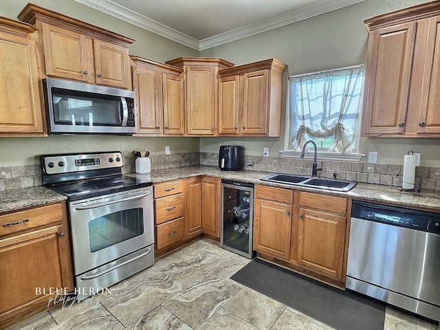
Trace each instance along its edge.
<path fill-rule="evenodd" d="M 43 186 L 67 196 L 78 299 L 153 265 L 153 183 L 122 175 L 122 153 L 40 162 Z"/>

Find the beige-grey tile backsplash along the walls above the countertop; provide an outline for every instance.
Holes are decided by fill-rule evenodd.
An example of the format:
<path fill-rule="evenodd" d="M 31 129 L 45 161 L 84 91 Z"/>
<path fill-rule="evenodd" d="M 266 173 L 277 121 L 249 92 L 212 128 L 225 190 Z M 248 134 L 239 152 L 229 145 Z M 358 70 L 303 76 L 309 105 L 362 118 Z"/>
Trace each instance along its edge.
<path fill-rule="evenodd" d="M 245 156 L 245 163 L 255 162 L 258 156 Z M 170 155 L 150 155 L 151 169 L 177 168 L 190 165 L 218 166 L 218 153 L 172 153 Z M 134 157 L 124 157 L 123 173 L 135 172 Z M 263 157 L 246 170 L 261 170 L 272 173 L 291 173 L 296 175 L 311 175 L 312 159 L 285 157 Z M 318 162 L 320 164 L 320 162 Z M 386 186 L 401 186 L 401 165 L 369 164 L 358 162 L 322 161 L 320 177 L 332 178 L 336 173 L 338 179 L 347 179 L 369 184 Z M 440 168 L 417 166 L 415 184 L 421 189 L 440 191 Z M 5 166 L 0 167 L 0 191 L 18 188 L 41 186 L 39 165 Z"/>

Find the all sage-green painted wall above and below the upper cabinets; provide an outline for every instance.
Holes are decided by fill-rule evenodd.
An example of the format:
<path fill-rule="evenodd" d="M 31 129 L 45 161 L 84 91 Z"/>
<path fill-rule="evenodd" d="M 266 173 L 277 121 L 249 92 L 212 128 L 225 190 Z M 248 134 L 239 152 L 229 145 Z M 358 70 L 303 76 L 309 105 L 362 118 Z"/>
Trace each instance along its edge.
<path fill-rule="evenodd" d="M 316 72 L 323 69 L 365 63 L 368 34 L 362 20 L 425 1 L 365 0 L 347 8 L 318 17 L 285 25 L 281 28 L 249 36 L 225 45 L 197 52 L 134 25 L 82 5 L 74 0 L 33 0 L 32 3 L 61 12 L 67 16 L 129 36 L 136 40 L 130 47 L 131 55 L 139 55 L 164 62 L 179 56 L 218 57 L 236 65 L 278 58 L 288 67 L 284 73 L 283 117 L 287 76 Z M 0 15 L 16 19 L 28 0 L 0 0 Z M 153 153 L 217 152 L 221 144 L 241 144 L 248 155 L 261 155 L 263 147 L 270 148 L 271 156 L 281 155 L 284 148 L 284 124 L 281 137 L 122 137 L 114 135 L 56 135 L 49 137 L 2 137 L 0 166 L 36 164 L 43 153 L 120 150 L 129 155 L 136 148 L 148 148 Z M 440 167 L 440 139 L 433 138 L 362 138 L 361 152 L 379 153 L 380 164 L 402 164 L 408 150 L 421 153 L 422 166 Z M 361 162 L 366 162 L 363 157 Z"/>

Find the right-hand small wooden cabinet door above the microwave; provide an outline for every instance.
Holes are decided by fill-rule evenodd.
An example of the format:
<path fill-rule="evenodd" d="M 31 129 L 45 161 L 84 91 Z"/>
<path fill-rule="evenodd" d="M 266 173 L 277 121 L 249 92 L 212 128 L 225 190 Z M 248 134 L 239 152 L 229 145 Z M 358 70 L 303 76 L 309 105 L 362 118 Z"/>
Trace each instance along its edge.
<path fill-rule="evenodd" d="M 94 39 L 96 83 L 131 88 L 129 49 Z"/>

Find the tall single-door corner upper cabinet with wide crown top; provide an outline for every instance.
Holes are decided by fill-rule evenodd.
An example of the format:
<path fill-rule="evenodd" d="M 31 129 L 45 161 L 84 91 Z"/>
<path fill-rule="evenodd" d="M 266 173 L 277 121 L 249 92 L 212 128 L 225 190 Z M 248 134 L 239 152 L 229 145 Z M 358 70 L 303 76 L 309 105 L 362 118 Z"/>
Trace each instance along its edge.
<path fill-rule="evenodd" d="M 219 69 L 234 64 L 220 58 L 181 57 L 166 62 L 184 69 L 187 135 L 218 135 L 217 107 Z"/>

